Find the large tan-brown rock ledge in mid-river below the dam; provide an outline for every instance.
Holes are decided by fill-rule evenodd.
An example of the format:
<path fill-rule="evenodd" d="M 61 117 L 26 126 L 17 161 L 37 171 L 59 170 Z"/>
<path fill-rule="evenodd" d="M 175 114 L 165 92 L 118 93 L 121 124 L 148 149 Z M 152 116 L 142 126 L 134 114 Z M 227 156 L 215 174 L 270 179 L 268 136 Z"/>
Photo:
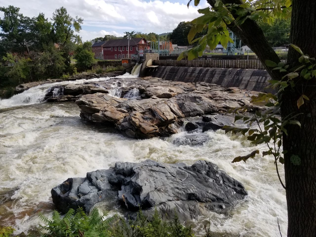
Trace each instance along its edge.
<path fill-rule="evenodd" d="M 172 82 L 160 78 L 119 80 L 123 86 L 117 88 L 120 96 L 116 97 L 108 94 L 110 81 L 101 83 L 103 92 L 100 91 L 100 85 L 98 88 L 95 85 L 75 85 L 76 88 L 87 91 L 76 100 L 76 104 L 81 109 L 82 118 L 114 125 L 132 138 L 167 137 L 177 133 L 189 117 L 214 115 L 246 104 L 251 110 L 263 109 L 250 105 L 250 97 L 257 93 L 254 91 L 223 88 L 204 82 Z M 91 90 L 100 92 L 93 93 Z M 125 95 L 134 90 L 138 91 L 138 96 L 126 98 Z M 211 119 L 216 120 L 219 117 L 210 117 L 208 122 Z M 218 129 L 220 126 L 209 126 L 208 129 L 216 127 Z"/>

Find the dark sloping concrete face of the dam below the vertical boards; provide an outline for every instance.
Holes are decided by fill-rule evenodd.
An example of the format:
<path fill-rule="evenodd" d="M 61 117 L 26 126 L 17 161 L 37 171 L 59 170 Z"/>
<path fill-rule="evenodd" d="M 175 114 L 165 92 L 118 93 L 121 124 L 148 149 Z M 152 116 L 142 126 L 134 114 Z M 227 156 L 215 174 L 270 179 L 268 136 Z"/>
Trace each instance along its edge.
<path fill-rule="evenodd" d="M 272 89 L 264 89 L 269 85 L 270 75 L 261 69 L 159 66 L 155 71 L 147 70 L 147 75 L 171 81 L 208 82 L 224 87 L 275 92 Z"/>

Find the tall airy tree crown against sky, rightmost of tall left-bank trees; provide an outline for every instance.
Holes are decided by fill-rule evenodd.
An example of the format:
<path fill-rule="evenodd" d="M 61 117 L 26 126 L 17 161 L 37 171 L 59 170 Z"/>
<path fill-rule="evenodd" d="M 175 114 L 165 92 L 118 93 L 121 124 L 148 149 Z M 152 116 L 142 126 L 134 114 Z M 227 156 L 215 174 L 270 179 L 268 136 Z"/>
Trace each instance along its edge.
<path fill-rule="evenodd" d="M 53 13 L 51 19 L 55 29 L 56 39 L 62 46 L 66 46 L 72 40 L 77 40 L 78 37 L 75 32 L 79 32 L 82 28 L 83 19 L 81 17 L 72 17 L 67 13 L 64 7 L 58 8 Z"/>

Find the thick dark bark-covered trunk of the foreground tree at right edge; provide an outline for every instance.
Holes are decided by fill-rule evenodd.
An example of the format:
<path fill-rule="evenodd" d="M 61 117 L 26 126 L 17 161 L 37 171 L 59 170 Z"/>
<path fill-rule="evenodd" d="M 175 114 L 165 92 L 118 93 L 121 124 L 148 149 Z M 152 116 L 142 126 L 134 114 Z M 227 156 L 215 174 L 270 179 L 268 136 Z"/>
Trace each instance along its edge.
<path fill-rule="evenodd" d="M 293 0 L 290 41 L 310 55 L 316 56 L 316 1 Z M 292 47 L 288 63 L 299 64 L 300 54 Z M 288 237 L 314 237 L 316 235 L 316 82 L 298 79 L 295 88 L 281 95 L 281 115 L 301 114 L 297 120 L 301 128 L 286 126 L 283 134 L 286 199 L 288 206 Z M 298 109 L 297 100 L 305 94 L 310 101 Z"/>

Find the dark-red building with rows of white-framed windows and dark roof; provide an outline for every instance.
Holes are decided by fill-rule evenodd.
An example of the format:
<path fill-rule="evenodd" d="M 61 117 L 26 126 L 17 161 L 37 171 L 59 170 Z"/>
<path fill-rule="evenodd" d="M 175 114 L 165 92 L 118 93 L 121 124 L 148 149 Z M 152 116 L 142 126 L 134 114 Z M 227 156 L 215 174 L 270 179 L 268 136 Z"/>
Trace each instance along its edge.
<path fill-rule="evenodd" d="M 103 59 L 135 58 L 142 56 L 142 50 L 150 49 L 144 38 L 108 40 L 100 46 L 103 49 Z"/>

